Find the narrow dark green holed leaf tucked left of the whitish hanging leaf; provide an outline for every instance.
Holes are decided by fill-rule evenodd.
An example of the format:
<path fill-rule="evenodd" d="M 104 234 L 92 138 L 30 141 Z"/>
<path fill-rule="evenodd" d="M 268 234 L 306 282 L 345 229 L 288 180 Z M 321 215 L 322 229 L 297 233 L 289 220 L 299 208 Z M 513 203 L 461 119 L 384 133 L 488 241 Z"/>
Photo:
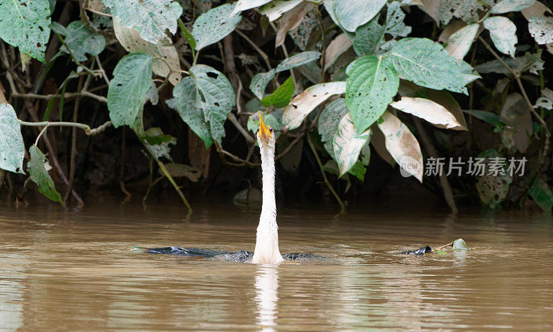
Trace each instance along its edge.
<path fill-rule="evenodd" d="M 319 116 L 319 122 L 317 122 L 317 130 L 319 131 L 319 135 L 321 135 L 321 141 L 332 159 L 335 159 L 333 146 L 334 135 L 338 130 L 338 124 L 341 118 L 344 118 L 346 113 L 348 113 L 346 100 L 344 98 L 338 98 L 326 105 L 321 112 L 321 116 Z"/>

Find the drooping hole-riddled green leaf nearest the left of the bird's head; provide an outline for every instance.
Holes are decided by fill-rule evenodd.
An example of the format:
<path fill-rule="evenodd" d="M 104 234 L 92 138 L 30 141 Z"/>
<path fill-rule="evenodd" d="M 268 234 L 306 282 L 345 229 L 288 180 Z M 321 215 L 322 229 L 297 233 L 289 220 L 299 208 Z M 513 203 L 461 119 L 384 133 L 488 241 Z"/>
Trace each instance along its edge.
<path fill-rule="evenodd" d="M 189 73 L 173 90 L 178 113 L 205 147 L 213 140 L 221 144 L 223 124 L 236 102 L 232 85 L 223 73 L 203 64 L 193 66 Z"/>

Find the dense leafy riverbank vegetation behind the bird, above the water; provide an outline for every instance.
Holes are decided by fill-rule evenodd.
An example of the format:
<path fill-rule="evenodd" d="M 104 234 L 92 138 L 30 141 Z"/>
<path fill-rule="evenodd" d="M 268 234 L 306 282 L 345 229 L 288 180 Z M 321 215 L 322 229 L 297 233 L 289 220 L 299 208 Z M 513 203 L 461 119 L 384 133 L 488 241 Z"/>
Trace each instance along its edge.
<path fill-rule="evenodd" d="M 191 211 L 190 194 L 223 190 L 248 204 L 260 111 L 281 195 L 344 209 L 403 181 L 453 212 L 551 212 L 548 6 L 3 1 L 0 194 L 25 201 L 36 183 L 82 205 L 98 188 L 144 202 L 172 188 Z"/>

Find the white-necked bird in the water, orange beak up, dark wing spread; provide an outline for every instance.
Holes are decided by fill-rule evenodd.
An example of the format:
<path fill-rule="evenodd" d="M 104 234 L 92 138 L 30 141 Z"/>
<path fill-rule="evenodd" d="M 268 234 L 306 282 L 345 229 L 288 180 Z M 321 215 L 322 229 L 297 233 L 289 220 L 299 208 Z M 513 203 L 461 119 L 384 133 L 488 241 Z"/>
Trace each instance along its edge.
<path fill-rule="evenodd" d="M 268 127 L 261 112 L 259 112 L 259 130 L 256 134 L 261 154 L 261 177 L 263 182 L 263 205 L 257 226 L 254 252 L 241 250 L 238 252 L 224 252 L 219 250 L 197 248 L 137 248 L 136 251 L 153 254 L 172 254 L 185 256 L 214 257 L 226 261 L 237 261 L 254 264 L 279 264 L 281 261 L 317 257 L 312 254 L 285 254 L 279 250 L 279 226 L 277 225 L 277 202 L 274 196 L 274 149 L 276 138 L 274 131 Z"/>

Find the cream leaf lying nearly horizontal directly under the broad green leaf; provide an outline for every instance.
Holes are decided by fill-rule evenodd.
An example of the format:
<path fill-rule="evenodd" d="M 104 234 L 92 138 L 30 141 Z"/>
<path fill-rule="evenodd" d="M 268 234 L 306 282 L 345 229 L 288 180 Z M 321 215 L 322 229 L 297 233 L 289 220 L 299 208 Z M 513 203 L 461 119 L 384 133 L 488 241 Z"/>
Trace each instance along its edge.
<path fill-rule="evenodd" d="M 444 129 L 462 129 L 462 125 L 453 114 L 449 113 L 442 105 L 424 98 L 402 97 L 398 102 L 392 102 L 391 107 L 411 113 L 427 120 L 436 127 Z"/>

